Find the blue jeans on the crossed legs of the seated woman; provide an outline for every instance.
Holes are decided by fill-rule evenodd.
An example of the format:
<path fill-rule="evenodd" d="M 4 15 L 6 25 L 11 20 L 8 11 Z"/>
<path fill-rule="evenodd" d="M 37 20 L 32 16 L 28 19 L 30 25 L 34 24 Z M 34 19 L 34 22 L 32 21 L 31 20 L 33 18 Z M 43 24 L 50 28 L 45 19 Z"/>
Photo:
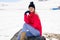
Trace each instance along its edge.
<path fill-rule="evenodd" d="M 27 37 L 28 36 L 40 36 L 40 32 L 27 23 L 24 23 L 23 29 L 20 31 L 18 35 L 18 40 L 20 39 L 21 32 L 26 32 Z"/>

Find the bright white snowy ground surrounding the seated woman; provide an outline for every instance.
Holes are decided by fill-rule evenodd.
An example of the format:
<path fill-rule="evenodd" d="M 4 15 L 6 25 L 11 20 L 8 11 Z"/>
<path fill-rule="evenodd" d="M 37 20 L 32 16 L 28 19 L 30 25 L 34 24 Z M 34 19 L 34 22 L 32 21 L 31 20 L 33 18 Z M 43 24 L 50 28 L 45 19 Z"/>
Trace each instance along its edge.
<path fill-rule="evenodd" d="M 0 2 L 0 40 L 10 40 L 22 28 L 24 12 L 28 9 L 30 1 Z M 48 0 L 39 2 L 35 0 L 34 3 L 41 19 L 43 33 L 60 34 L 60 10 L 51 10 L 53 7 L 58 7 L 60 1 Z"/>

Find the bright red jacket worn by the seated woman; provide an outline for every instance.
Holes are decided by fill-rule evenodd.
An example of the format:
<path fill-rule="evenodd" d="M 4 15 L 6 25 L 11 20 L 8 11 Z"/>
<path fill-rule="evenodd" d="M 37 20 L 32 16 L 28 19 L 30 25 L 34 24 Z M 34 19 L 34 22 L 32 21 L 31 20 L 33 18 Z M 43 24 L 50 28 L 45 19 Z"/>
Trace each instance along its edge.
<path fill-rule="evenodd" d="M 40 32 L 40 36 L 42 36 L 42 26 L 41 26 L 41 22 L 37 14 L 32 12 L 28 16 L 24 15 L 24 21 L 30 24 L 35 29 L 37 29 Z"/>

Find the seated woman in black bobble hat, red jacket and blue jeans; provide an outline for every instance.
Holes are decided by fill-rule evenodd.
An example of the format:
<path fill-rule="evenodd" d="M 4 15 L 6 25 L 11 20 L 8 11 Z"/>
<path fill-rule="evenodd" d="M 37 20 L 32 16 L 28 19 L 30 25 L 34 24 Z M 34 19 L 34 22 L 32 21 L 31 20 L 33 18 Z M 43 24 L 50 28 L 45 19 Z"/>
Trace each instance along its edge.
<path fill-rule="evenodd" d="M 35 12 L 35 5 L 30 2 L 29 11 L 24 14 L 23 29 L 19 33 L 18 40 L 24 40 L 26 37 L 42 36 L 42 26 L 39 16 Z"/>

